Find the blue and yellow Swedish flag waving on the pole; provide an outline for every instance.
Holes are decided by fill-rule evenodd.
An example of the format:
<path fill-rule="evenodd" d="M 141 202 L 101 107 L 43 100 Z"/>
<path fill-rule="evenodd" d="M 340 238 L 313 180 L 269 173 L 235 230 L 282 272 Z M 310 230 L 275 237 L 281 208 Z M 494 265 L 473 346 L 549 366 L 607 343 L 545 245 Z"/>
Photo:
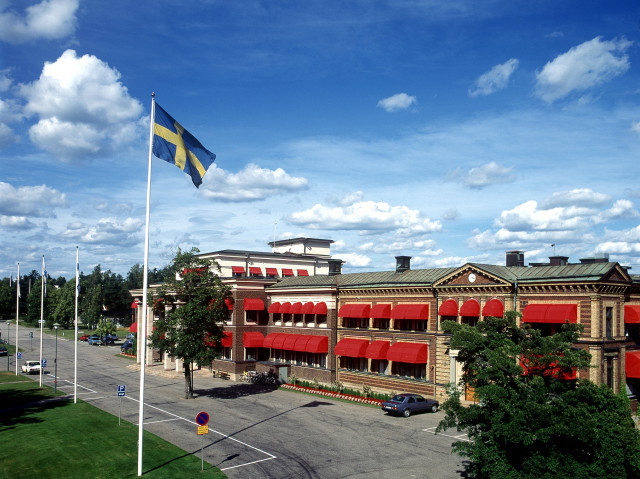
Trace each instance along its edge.
<path fill-rule="evenodd" d="M 196 188 L 200 187 L 202 177 L 216 159 L 215 154 L 202 146 L 157 103 L 153 123 L 153 154 L 191 176 Z"/>

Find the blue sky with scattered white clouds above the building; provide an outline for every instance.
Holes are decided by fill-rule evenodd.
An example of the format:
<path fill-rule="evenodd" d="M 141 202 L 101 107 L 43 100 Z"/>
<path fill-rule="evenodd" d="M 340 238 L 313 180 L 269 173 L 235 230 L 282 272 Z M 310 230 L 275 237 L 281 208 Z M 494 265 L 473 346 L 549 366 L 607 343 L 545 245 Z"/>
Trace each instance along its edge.
<path fill-rule="evenodd" d="M 335 241 L 345 272 L 607 253 L 640 274 L 640 4 L 0 0 L 0 277 Z M 555 248 L 551 245 L 555 244 Z"/>

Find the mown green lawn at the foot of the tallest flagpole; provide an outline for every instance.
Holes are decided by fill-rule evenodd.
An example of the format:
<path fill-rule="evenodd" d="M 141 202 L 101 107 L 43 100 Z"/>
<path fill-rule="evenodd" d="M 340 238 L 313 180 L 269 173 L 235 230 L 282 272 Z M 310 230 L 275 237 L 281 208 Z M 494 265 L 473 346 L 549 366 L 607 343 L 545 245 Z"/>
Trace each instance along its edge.
<path fill-rule="evenodd" d="M 0 372 L 0 478 L 126 478 L 138 473 L 138 427 L 53 389 Z M 203 477 L 199 455 L 145 431 L 143 477 Z M 205 463 L 206 477 L 226 477 Z"/>

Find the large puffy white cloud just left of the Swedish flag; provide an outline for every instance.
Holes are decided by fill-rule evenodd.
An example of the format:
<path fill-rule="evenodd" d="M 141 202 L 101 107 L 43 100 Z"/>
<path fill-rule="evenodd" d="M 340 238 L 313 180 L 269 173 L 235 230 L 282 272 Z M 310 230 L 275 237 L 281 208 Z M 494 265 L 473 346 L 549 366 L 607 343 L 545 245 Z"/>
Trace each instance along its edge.
<path fill-rule="evenodd" d="M 142 105 L 120 73 L 93 55 L 66 50 L 40 78 L 20 86 L 24 111 L 37 115 L 31 141 L 62 161 L 109 154 L 138 138 Z"/>

